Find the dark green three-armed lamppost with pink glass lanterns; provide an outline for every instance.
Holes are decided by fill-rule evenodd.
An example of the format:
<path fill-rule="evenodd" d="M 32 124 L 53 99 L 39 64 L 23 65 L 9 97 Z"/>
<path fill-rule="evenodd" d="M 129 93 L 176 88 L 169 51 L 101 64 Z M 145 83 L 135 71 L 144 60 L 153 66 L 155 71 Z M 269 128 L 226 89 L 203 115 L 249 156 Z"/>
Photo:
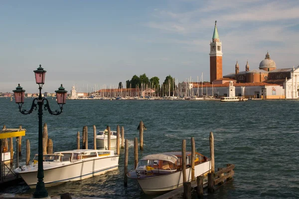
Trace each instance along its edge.
<path fill-rule="evenodd" d="M 21 109 L 24 103 L 25 90 L 18 84 L 18 86 L 13 90 L 15 103 L 18 104 L 19 111 L 21 114 L 28 115 L 32 113 L 33 110 L 37 110 L 38 105 L 38 170 L 37 170 L 37 179 L 38 182 L 36 184 L 36 190 L 33 193 L 33 198 L 46 198 L 48 197 L 48 192 L 45 189 L 45 185 L 43 182 L 43 154 L 42 154 L 42 106 L 44 106 L 44 110 L 48 111 L 51 115 L 59 115 L 62 113 L 62 106 L 66 101 L 66 93 L 67 91 L 61 86 L 56 90 L 57 103 L 60 107 L 60 110 L 51 111 L 49 102 L 46 98 L 41 97 L 41 89 L 42 85 L 45 81 L 46 71 L 39 65 L 39 67 L 33 71 L 35 73 L 35 81 L 38 84 L 39 96 L 34 98 L 32 101 L 32 105 L 29 111 L 25 109 Z"/>

